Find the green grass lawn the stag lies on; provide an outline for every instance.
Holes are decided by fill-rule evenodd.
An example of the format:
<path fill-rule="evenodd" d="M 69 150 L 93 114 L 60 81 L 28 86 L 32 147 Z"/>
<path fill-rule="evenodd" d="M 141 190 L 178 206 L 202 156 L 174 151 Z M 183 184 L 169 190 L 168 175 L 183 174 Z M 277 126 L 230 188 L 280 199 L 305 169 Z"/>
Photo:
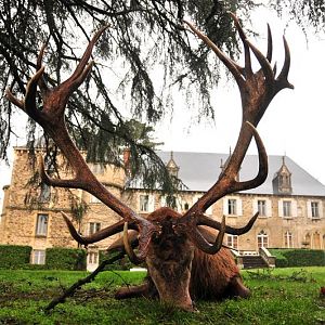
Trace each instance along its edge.
<path fill-rule="evenodd" d="M 186 313 L 146 299 L 117 301 L 120 285 L 143 272 L 103 272 L 50 314 L 43 309 L 86 272 L 0 270 L 0 324 L 325 324 L 325 268 L 244 271 L 248 300 L 197 301 Z"/>

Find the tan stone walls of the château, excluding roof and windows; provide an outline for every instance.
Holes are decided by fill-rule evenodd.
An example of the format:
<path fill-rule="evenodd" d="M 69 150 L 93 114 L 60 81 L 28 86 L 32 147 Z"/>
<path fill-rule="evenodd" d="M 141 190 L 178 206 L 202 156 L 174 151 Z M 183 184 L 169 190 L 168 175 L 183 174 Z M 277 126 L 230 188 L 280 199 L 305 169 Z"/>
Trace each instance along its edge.
<path fill-rule="evenodd" d="M 35 166 L 37 165 L 38 161 L 36 161 Z M 65 211 L 73 220 L 70 210 L 72 194 L 75 195 L 77 200 L 83 200 L 88 205 L 88 209 L 80 223 L 82 235 L 89 235 L 90 222 L 101 223 L 101 229 L 104 229 L 120 220 L 120 217 L 112 209 L 104 206 L 91 194 L 81 190 L 69 192 L 64 188 L 51 188 L 50 200 L 39 203 L 38 197 L 41 191 L 39 183 L 36 182 L 34 185 L 29 183 L 34 176 L 35 166 L 28 161 L 25 148 L 15 150 L 12 183 L 5 190 L 4 196 L 4 209 L 0 223 L 0 244 L 30 245 L 34 249 L 46 249 L 53 246 L 77 247 L 77 243 L 70 237 L 60 212 L 61 210 Z M 145 192 L 143 190 L 123 191 L 125 174 L 121 169 L 113 167 L 102 168 L 101 166 L 92 166 L 92 169 L 110 193 L 144 217 L 164 204 L 164 197 L 161 197 L 159 192 Z M 64 177 L 69 178 L 72 174 L 67 170 Z M 148 211 L 140 211 L 141 195 L 151 196 Z M 180 193 L 177 197 L 178 211 L 181 213 L 185 212 L 202 195 L 202 192 L 184 191 Z M 226 223 L 234 227 L 244 226 L 249 221 L 255 213 L 257 199 L 265 199 L 270 205 L 270 216 L 259 217 L 250 232 L 238 238 L 238 249 L 257 250 L 257 238 L 262 231 L 268 234 L 269 247 L 285 247 L 285 233 L 290 232 L 292 235 L 292 247 L 325 249 L 324 197 L 232 194 L 217 202 L 206 214 L 220 221 L 222 214 L 226 211 L 227 198 L 236 199 L 238 206 L 240 206 L 238 214 L 226 216 Z M 295 203 L 296 217 L 280 217 L 278 202 L 283 199 L 290 199 Z M 308 203 L 310 200 L 320 202 L 324 209 L 322 218 L 311 219 L 308 216 Z M 49 216 L 48 234 L 43 237 L 36 235 L 37 216 L 39 213 Z M 74 221 L 74 224 L 77 229 L 79 227 L 76 221 Z M 106 249 L 119 236 L 118 234 L 101 240 L 91 245 L 91 248 Z"/>

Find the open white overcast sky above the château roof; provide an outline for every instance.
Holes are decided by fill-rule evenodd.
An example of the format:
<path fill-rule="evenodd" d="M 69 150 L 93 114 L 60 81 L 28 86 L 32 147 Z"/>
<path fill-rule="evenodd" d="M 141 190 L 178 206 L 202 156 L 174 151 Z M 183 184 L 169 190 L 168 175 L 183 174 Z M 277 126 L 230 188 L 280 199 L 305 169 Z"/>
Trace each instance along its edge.
<path fill-rule="evenodd" d="M 277 61 L 278 70 L 283 63 L 283 34 L 289 43 L 289 81 L 295 90 L 283 90 L 276 95 L 259 123 L 259 133 L 269 154 L 286 154 L 325 184 L 325 83 L 322 78 L 325 73 L 325 35 L 309 34 L 307 43 L 297 26 L 286 27 L 285 20 L 281 22 L 268 10 L 259 10 L 252 17 L 252 28 L 260 32 L 261 38 L 253 43 L 263 51 L 266 48 L 266 23 L 271 24 L 273 61 Z M 172 119 L 167 117 L 155 127 L 157 140 L 165 143 L 161 150 L 227 153 L 230 146 L 234 147 L 242 109 L 236 84 L 222 82 L 212 95 L 212 103 L 214 98 L 218 99 L 214 101 L 218 104 L 214 106 L 216 122 L 203 119 L 200 123 L 186 110 L 182 100 L 176 98 Z M 256 153 L 255 146 L 249 153 Z M 220 161 L 216 161 L 216 168 L 219 165 Z M 0 162 L 0 188 L 10 183 L 10 169 Z M 0 211 L 2 196 L 0 190 Z"/>

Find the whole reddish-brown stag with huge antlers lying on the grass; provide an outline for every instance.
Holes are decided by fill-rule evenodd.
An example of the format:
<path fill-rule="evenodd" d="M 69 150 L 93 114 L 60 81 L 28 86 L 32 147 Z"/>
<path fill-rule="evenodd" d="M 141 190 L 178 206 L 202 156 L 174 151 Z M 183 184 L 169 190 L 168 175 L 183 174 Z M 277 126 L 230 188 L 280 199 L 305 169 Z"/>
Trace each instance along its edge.
<path fill-rule="evenodd" d="M 63 213 L 72 236 L 83 245 L 99 242 L 125 229 L 123 240 L 113 244 L 109 249 L 119 247 L 126 249 L 133 262 L 145 261 L 148 276 L 143 285 L 119 289 L 116 294 L 117 298 L 156 296 L 161 301 L 193 311 L 195 309 L 193 299 L 248 297 L 250 294 L 249 289 L 243 285 L 238 268 L 231 252 L 222 246 L 222 240 L 224 233 L 242 235 L 248 232 L 258 213 L 242 229 L 225 225 L 224 217 L 219 222 L 204 213 L 223 196 L 257 187 L 264 182 L 268 174 L 268 156 L 256 127 L 277 92 L 285 88 L 292 89 L 292 86 L 287 80 L 290 55 L 286 40 L 284 39 L 285 62 L 276 77 L 275 66 L 273 68 L 271 66 L 270 28 L 268 28 L 268 53 L 264 56 L 246 38 L 236 16 L 232 13 L 231 16 L 244 44 L 244 67 L 226 57 L 208 37 L 190 23 L 184 22 L 217 54 L 235 78 L 240 90 L 243 119 L 238 140 L 226 168 L 212 187 L 183 216 L 170 208 L 160 208 L 151 213 L 147 219 L 136 214 L 96 180 L 67 132 L 65 106 L 69 95 L 82 83 L 91 70 L 92 62 L 89 64 L 88 62 L 92 49 L 106 27 L 94 35 L 75 72 L 63 83 L 51 90 L 47 87 L 42 78 L 44 73 L 44 67 L 41 66 L 42 49 L 37 61 L 37 73 L 27 84 L 25 100 L 21 101 L 9 90 L 6 91 L 8 99 L 37 121 L 54 140 L 75 170 L 73 179 L 52 179 L 42 166 L 43 182 L 52 186 L 82 188 L 122 218 L 119 222 L 83 237 L 77 233 L 67 216 Z M 261 66 L 256 73 L 251 67 L 251 53 Z M 36 104 L 37 86 L 43 101 L 42 109 L 38 109 Z M 258 174 L 252 180 L 237 181 L 236 174 L 252 138 L 255 138 L 259 153 Z M 131 229 L 129 234 L 128 227 Z M 218 230 L 218 236 L 212 235 L 207 227 Z M 136 255 L 131 248 L 134 245 L 138 245 Z"/>

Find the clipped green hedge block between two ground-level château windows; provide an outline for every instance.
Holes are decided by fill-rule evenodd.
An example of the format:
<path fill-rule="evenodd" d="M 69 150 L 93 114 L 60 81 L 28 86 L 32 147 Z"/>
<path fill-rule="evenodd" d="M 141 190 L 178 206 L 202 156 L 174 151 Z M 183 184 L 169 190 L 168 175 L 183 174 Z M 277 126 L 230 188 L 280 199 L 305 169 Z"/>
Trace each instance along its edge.
<path fill-rule="evenodd" d="M 86 250 L 74 248 L 48 248 L 46 268 L 51 270 L 86 270 Z"/>

